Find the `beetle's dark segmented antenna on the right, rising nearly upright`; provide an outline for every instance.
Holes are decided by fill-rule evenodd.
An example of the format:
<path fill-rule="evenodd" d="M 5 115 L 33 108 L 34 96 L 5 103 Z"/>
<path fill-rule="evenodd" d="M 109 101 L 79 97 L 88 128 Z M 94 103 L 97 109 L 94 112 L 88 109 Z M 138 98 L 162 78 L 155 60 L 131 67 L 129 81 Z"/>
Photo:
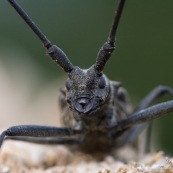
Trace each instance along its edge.
<path fill-rule="evenodd" d="M 119 0 L 118 8 L 115 11 L 113 24 L 112 24 L 111 31 L 108 36 L 107 42 L 105 42 L 103 44 L 103 46 L 101 47 L 101 49 L 98 52 L 95 68 L 99 72 L 103 71 L 106 62 L 111 57 L 111 54 L 115 49 L 115 35 L 116 35 L 118 23 L 119 23 L 119 20 L 120 20 L 122 11 L 123 11 L 124 3 L 125 3 L 125 0 Z"/>

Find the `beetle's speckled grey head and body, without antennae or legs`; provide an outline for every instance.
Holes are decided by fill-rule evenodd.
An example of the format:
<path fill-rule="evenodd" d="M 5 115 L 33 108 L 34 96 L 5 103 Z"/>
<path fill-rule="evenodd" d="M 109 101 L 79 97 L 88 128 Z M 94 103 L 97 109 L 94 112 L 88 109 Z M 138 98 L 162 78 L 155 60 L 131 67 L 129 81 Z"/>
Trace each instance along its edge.
<path fill-rule="evenodd" d="M 87 70 L 75 67 L 66 81 L 60 101 L 64 112 L 64 125 L 87 129 L 83 151 L 111 151 L 118 142 L 115 132 L 105 129 L 114 127 L 132 112 L 127 91 L 120 82 L 110 81 L 94 66 Z"/>

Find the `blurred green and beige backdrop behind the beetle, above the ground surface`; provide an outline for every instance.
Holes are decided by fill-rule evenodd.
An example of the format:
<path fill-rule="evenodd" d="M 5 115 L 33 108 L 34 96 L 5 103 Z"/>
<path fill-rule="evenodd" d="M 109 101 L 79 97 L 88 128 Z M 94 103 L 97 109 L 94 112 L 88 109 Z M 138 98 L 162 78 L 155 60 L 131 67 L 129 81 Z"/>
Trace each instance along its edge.
<path fill-rule="evenodd" d="M 88 68 L 106 41 L 116 0 L 18 0 L 73 64 Z M 127 1 L 117 49 L 104 72 L 122 81 L 133 105 L 155 86 L 173 87 L 173 1 Z M 0 3 L 0 126 L 58 124 L 58 88 L 66 75 L 8 1 Z M 160 101 L 172 99 L 165 96 Z M 154 121 L 156 149 L 173 154 L 173 113 Z"/>

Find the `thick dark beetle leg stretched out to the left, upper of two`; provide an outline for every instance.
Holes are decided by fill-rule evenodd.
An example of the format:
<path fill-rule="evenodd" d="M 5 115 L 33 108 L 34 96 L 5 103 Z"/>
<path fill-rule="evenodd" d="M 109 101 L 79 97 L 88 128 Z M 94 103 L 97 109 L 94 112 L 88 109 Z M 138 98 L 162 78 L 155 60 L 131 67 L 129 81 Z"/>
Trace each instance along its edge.
<path fill-rule="evenodd" d="M 46 141 L 46 137 L 75 137 L 84 135 L 85 130 L 75 130 L 71 128 L 59 128 L 59 127 L 51 127 L 51 126 L 38 126 L 38 125 L 22 125 L 22 126 L 12 126 L 8 128 L 7 130 L 3 131 L 0 135 L 0 146 L 2 145 L 4 139 L 6 137 L 24 137 L 27 139 L 27 137 L 38 137 L 38 139 L 42 139 Z M 28 138 L 29 139 L 29 138 Z M 30 141 L 32 142 L 32 139 L 30 138 Z M 22 138 L 21 138 L 22 140 Z M 65 139 L 66 140 L 66 139 Z M 29 140 L 28 140 L 29 141 Z M 58 139 L 57 139 L 58 141 Z M 68 141 L 68 140 L 67 140 Z M 34 141 L 33 141 L 34 142 Z"/>

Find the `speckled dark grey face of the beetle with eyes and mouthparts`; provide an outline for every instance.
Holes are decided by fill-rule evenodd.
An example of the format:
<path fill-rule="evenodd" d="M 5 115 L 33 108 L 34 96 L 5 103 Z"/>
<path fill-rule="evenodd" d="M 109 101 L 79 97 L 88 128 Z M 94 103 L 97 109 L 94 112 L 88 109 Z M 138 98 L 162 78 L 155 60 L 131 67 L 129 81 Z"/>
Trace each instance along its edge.
<path fill-rule="evenodd" d="M 94 66 L 87 70 L 74 67 L 66 81 L 66 89 L 70 109 L 79 114 L 91 114 L 106 101 L 109 82 Z"/>

